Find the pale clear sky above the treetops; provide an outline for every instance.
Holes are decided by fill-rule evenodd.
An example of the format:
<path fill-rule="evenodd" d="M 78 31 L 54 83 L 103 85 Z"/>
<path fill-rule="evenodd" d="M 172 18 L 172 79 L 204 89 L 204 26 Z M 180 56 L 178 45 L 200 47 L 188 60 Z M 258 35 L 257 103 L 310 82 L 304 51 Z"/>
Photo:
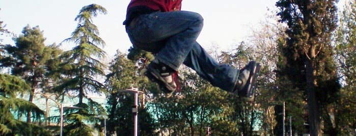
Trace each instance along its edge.
<path fill-rule="evenodd" d="M 222 50 L 231 49 L 249 35 L 252 27 L 265 19 L 267 9 L 277 9 L 278 0 L 183 0 L 182 10 L 197 12 L 204 18 L 204 28 L 198 42 L 209 48 L 217 45 Z M 344 4 L 345 0 L 339 3 Z M 0 0 L 0 21 L 5 29 L 21 35 L 23 27 L 39 26 L 46 38 L 45 45 L 60 44 L 70 38 L 77 26 L 74 18 L 79 10 L 90 4 L 97 4 L 107 10 L 106 15 L 99 14 L 93 18 L 100 32 L 99 37 L 106 45 L 103 50 L 113 56 L 116 51 L 127 53 L 132 46 L 122 22 L 125 20 L 129 0 Z M 2 36 L 2 44 L 14 45 L 11 37 Z M 65 43 L 64 50 L 70 50 L 74 43 Z"/>

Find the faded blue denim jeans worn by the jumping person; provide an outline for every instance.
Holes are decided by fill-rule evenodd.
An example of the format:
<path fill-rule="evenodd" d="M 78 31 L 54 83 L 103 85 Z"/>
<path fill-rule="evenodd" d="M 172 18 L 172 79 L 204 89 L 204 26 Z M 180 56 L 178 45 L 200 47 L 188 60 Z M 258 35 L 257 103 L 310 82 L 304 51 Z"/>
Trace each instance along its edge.
<path fill-rule="evenodd" d="M 213 86 L 233 91 L 239 70 L 217 63 L 196 42 L 202 28 L 203 18 L 187 11 L 144 14 L 126 24 L 132 44 L 155 53 L 155 59 L 176 71 L 185 64 Z"/>

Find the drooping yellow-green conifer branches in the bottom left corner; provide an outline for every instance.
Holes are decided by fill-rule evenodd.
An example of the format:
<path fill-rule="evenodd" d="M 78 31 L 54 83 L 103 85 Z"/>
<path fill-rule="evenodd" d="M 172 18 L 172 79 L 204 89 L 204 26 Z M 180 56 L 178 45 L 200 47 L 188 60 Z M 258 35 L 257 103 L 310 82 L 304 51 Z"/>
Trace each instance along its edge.
<path fill-rule="evenodd" d="M 43 127 L 19 121 L 13 113 L 21 116 L 31 112 L 40 121 L 44 114 L 35 104 L 24 99 L 16 98 L 17 94 L 29 90 L 23 79 L 11 75 L 0 75 L 0 134 L 1 135 L 50 135 Z"/>

